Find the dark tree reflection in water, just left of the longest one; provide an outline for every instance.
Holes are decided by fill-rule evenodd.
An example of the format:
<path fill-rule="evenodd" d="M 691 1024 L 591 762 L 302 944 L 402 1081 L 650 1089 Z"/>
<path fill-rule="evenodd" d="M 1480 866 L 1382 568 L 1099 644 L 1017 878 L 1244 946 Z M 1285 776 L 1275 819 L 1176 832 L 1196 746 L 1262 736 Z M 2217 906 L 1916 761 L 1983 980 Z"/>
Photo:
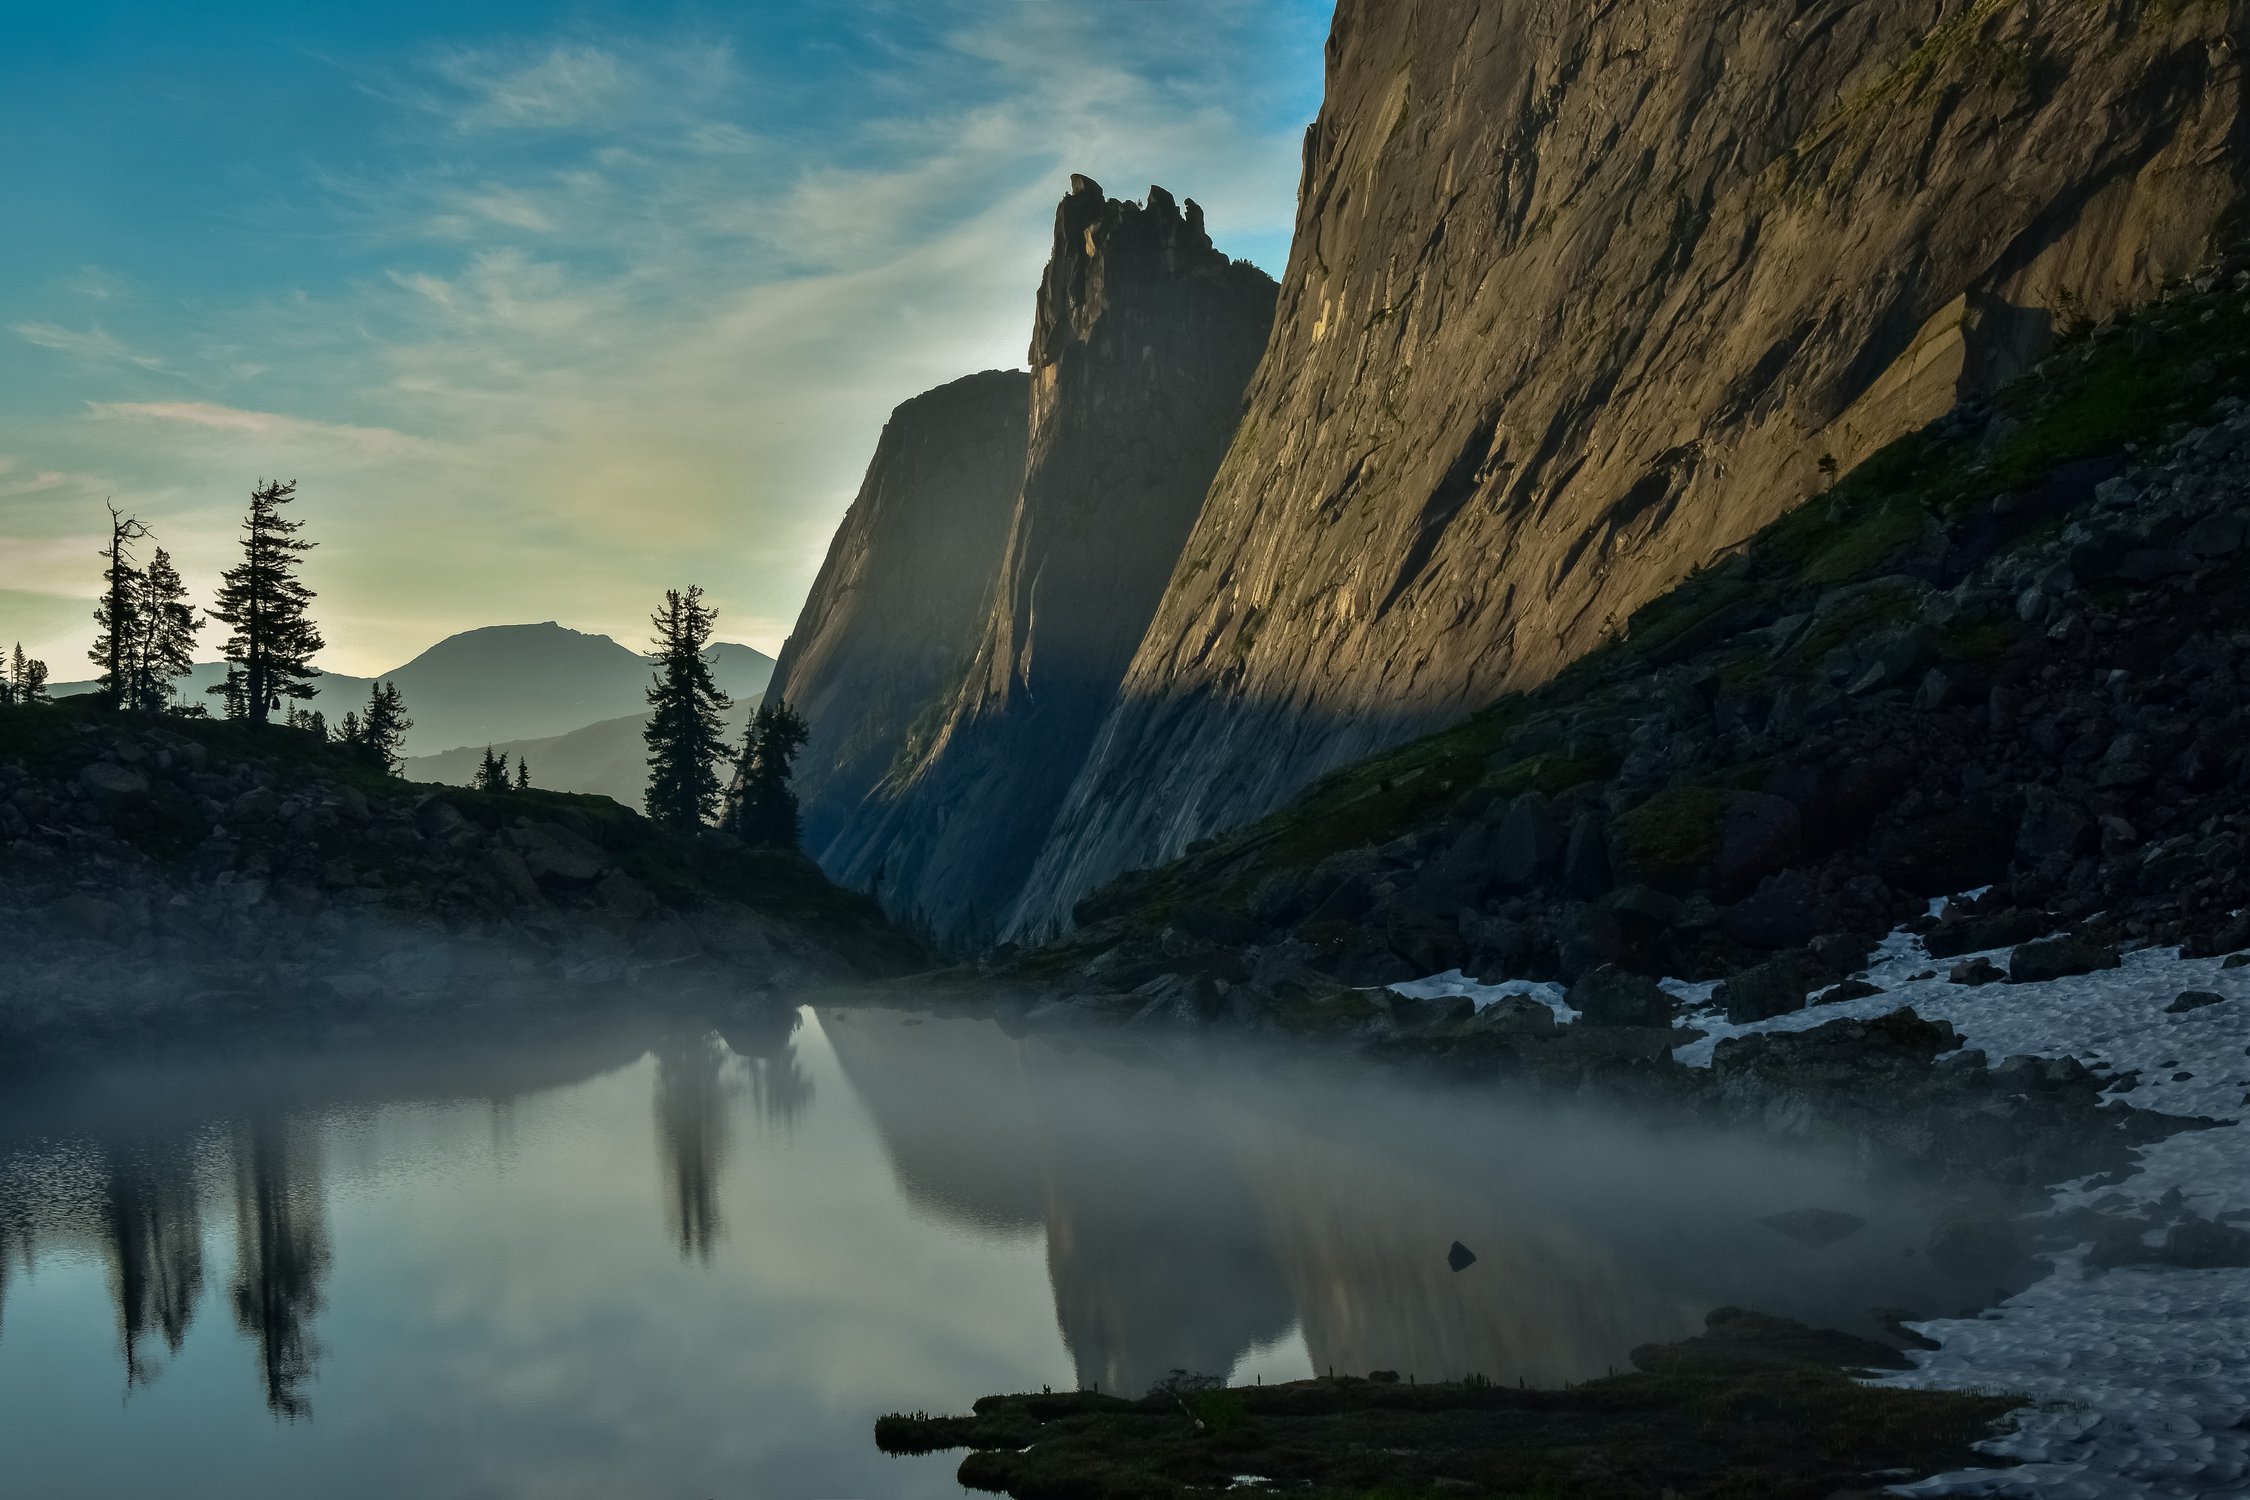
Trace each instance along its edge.
<path fill-rule="evenodd" d="M 158 1367 L 142 1358 L 155 1329 L 173 1354 L 202 1298 L 202 1201 L 196 1163 L 180 1149 L 106 1151 L 104 1239 L 126 1385 L 146 1385 Z"/>

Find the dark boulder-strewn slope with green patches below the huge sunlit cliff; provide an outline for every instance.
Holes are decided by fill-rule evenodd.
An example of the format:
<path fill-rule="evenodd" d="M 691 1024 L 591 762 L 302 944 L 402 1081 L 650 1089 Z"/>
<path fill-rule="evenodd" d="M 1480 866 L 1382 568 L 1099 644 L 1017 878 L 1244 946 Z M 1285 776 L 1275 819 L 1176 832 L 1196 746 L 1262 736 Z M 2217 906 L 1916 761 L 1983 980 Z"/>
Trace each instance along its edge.
<path fill-rule="evenodd" d="M 2246 454 L 2232 254 L 1886 448 L 1550 684 L 1109 884 L 1019 972 L 1089 1016 L 1249 1021 L 1449 969 L 1658 1014 L 1618 974 L 1728 978 L 1739 1021 L 1802 1007 L 1901 922 L 1933 954 L 2072 929 L 2038 956 L 2059 974 L 2250 947 Z"/>

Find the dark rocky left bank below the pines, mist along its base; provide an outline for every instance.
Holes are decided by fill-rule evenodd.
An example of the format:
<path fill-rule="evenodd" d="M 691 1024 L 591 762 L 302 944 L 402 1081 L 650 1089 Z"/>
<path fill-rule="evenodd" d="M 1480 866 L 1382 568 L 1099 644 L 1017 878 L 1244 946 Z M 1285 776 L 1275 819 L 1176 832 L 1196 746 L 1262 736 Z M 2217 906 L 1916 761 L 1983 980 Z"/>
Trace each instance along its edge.
<path fill-rule="evenodd" d="M 0 1052 L 774 990 L 920 956 L 819 870 L 292 729 L 0 708 Z"/>

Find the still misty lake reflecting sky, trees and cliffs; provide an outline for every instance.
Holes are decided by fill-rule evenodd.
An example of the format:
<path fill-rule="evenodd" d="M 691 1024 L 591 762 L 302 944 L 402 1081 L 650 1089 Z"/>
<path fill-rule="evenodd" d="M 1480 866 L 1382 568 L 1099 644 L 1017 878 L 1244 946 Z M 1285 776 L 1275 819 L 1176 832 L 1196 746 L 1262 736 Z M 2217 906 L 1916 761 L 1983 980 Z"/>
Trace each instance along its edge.
<path fill-rule="evenodd" d="M 1870 1223 L 1760 1223 L 1809 1205 Z M 904 1010 L 236 1046 L 0 1082 L 0 1493 L 958 1496 L 875 1417 L 1557 1383 L 1728 1302 L 1872 1334 L 1982 1291 L 1928 1219 L 1768 1142 Z"/>

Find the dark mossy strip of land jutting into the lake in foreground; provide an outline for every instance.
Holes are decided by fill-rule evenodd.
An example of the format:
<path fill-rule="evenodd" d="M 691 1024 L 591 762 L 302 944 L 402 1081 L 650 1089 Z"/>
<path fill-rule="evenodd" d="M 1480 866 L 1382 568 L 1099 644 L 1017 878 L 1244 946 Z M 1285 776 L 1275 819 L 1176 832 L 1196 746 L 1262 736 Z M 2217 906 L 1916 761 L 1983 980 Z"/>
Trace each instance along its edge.
<path fill-rule="evenodd" d="M 2016 1397 L 1888 1390 L 1888 1345 L 1739 1309 L 1564 1390 L 1318 1379 L 1217 1390 L 1174 1376 L 1127 1401 L 986 1397 L 970 1417 L 884 1417 L 886 1453 L 970 1448 L 961 1482 L 1017 1500 L 1184 1500 L 1258 1475 L 1292 1496 L 1827 1500 L 1980 1462 Z"/>

